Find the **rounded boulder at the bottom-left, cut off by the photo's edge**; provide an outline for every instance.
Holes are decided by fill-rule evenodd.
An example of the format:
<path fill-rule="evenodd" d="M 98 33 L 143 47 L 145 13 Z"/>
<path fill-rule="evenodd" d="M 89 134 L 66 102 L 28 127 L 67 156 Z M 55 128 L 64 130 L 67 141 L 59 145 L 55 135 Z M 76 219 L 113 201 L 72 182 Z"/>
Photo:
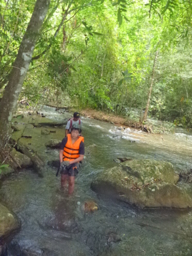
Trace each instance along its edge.
<path fill-rule="evenodd" d="M 0 240 L 20 227 L 19 219 L 0 203 Z"/>

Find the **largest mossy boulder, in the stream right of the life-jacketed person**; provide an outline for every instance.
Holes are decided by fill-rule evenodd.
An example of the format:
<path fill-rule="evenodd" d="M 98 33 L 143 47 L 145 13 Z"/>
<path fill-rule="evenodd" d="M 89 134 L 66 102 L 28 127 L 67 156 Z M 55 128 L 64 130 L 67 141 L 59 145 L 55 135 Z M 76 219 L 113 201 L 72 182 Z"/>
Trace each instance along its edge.
<path fill-rule="evenodd" d="M 151 159 L 126 161 L 98 173 L 91 187 L 99 193 L 115 193 L 121 200 L 140 207 L 192 207 L 182 187 L 175 185 L 178 175 L 173 166 Z"/>

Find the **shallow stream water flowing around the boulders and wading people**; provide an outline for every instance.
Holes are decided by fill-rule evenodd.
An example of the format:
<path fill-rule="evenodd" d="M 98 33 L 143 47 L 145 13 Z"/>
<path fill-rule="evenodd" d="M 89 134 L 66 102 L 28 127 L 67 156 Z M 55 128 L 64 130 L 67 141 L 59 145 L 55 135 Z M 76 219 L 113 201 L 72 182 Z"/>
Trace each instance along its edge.
<path fill-rule="evenodd" d="M 55 114 L 52 108 L 44 111 L 55 121 L 68 117 Z M 191 210 L 141 210 L 113 193 L 97 195 L 90 188 L 98 172 L 117 165 L 117 157 L 163 160 L 177 171 L 192 168 L 192 134 L 154 135 L 134 129 L 120 134 L 113 124 L 88 118 L 82 121 L 86 153 L 71 197 L 60 189 L 56 168 L 47 164 L 43 178 L 27 169 L 2 182 L 1 201 L 22 221 L 9 255 L 20 255 L 15 248 L 36 251 L 33 255 L 58 256 L 192 255 Z M 45 143 L 50 138 L 61 140 L 65 134 L 65 127 L 49 130 L 56 133 L 41 135 L 41 128 L 35 128 L 32 139 L 21 139 L 31 143 L 45 163 L 58 159 L 58 150 L 47 149 Z M 191 193 L 191 185 L 185 186 Z M 85 213 L 86 200 L 97 202 L 99 210 Z"/>

